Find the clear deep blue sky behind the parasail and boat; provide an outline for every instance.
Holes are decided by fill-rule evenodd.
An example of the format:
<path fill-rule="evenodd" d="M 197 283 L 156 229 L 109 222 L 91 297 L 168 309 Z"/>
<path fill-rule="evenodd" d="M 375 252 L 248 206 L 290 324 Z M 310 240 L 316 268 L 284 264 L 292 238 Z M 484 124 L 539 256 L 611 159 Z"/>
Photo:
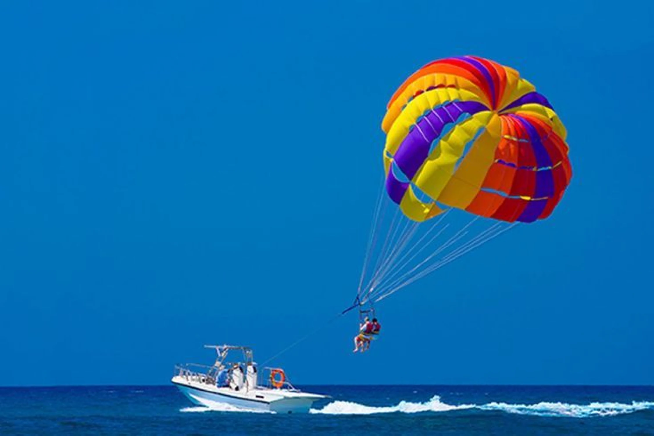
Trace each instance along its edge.
<path fill-rule="evenodd" d="M 393 295 L 370 354 L 353 315 L 278 363 L 654 384 L 649 2 L 10 3 L 0 386 L 165 384 L 205 343 L 264 360 L 320 326 L 358 284 L 388 97 L 463 54 L 521 71 L 568 127 L 559 209 Z"/>

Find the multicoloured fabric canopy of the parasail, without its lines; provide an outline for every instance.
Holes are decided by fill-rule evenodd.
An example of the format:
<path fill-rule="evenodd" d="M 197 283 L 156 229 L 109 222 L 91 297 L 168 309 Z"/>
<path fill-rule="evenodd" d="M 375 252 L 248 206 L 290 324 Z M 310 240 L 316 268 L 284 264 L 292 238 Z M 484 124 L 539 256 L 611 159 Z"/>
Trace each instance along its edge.
<path fill-rule="evenodd" d="M 388 103 L 386 189 L 405 216 L 447 207 L 507 222 L 547 218 L 570 182 L 566 130 L 517 71 L 475 56 L 428 63 Z"/>

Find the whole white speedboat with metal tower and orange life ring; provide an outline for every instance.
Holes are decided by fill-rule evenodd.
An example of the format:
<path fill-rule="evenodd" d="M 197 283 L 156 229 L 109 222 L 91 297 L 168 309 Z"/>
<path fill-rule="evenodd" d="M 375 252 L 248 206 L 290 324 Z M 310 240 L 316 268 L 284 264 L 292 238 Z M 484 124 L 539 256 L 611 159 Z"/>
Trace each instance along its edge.
<path fill-rule="evenodd" d="M 281 368 L 264 368 L 266 384 L 259 384 L 259 369 L 247 346 L 205 345 L 216 350 L 213 365 L 186 363 L 175 366 L 171 382 L 193 403 L 206 407 L 232 405 L 239 409 L 275 413 L 306 413 L 326 395 L 308 394 L 294 388 Z M 240 361 L 228 361 L 241 352 Z"/>

